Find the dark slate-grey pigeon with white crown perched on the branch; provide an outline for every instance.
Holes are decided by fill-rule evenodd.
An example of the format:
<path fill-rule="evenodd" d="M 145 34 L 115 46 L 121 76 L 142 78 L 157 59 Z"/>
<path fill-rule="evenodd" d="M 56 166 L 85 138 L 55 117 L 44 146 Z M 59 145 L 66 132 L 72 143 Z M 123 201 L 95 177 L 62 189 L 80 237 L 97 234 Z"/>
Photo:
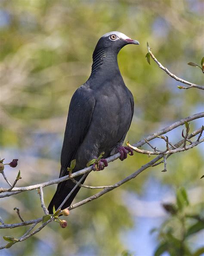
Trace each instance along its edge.
<path fill-rule="evenodd" d="M 133 118 L 134 99 L 126 87 L 117 63 L 117 54 L 125 45 L 139 45 L 121 32 L 103 35 L 93 51 L 91 75 L 72 96 L 61 153 L 59 177 L 68 175 L 71 161 L 76 160 L 72 173 L 87 167 L 90 160 L 103 153 L 103 159 L 93 164 L 93 170 L 108 166 L 107 157 L 120 152 L 120 159 L 133 155 L 129 147 L 123 147 Z M 79 181 L 82 176 L 77 176 Z M 87 176 L 80 183 L 83 184 Z M 59 208 L 76 184 L 67 180 L 58 184 L 48 211 Z M 77 186 L 61 210 L 68 208 L 80 186 Z"/>

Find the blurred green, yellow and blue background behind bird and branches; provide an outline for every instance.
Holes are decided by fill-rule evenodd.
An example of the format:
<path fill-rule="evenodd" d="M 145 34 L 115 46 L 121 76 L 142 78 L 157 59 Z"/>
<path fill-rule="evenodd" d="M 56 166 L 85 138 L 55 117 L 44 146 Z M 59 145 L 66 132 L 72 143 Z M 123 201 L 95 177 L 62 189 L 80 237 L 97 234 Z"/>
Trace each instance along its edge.
<path fill-rule="evenodd" d="M 188 115 L 202 111 L 201 90 L 179 90 L 178 82 L 145 60 L 148 41 L 153 53 L 174 74 L 202 84 L 199 68 L 203 50 L 202 0 L 1 0 L 0 1 L 0 156 L 17 168 L 6 168 L 18 186 L 35 184 L 59 175 L 59 159 L 68 106 L 74 91 L 90 75 L 92 53 L 98 39 L 120 31 L 140 42 L 118 55 L 124 81 L 135 99 L 135 113 L 127 139 L 135 143 L 148 134 Z M 191 123 L 199 128 L 201 120 Z M 182 128 L 169 134 L 181 139 Z M 155 141 L 164 148 L 164 144 Z M 163 166 L 140 174 L 124 186 L 71 211 L 68 227 L 49 224 L 36 236 L 18 243 L 2 256 L 117 256 L 130 252 L 151 256 L 158 245 L 153 227 L 167 213 L 162 202 L 174 202 L 180 186 L 187 189 L 191 209 L 202 200 L 202 145 L 173 155 Z M 133 173 L 150 159 L 135 154 L 91 173 L 87 185 L 110 185 Z M 6 186 L 1 179 L 0 186 Z M 56 186 L 44 189 L 46 205 Z M 95 191 L 82 188 L 74 202 Z M 37 191 L 1 199 L 0 215 L 6 223 L 19 222 L 14 207 L 26 220 L 43 215 Z M 26 228 L 1 230 L 19 237 Z M 189 246 L 201 246 L 204 234 L 191 237 Z M 0 244 L 5 241 L 0 238 Z M 168 254 L 164 254 L 168 255 Z"/>

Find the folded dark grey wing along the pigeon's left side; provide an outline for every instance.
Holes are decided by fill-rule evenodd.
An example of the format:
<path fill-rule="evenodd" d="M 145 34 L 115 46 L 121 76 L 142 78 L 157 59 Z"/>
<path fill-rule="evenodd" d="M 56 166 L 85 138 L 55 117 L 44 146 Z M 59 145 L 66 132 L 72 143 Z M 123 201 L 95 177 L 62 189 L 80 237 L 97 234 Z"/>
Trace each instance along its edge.
<path fill-rule="evenodd" d="M 90 89 L 85 86 L 79 87 L 72 96 L 62 145 L 59 177 L 68 174 L 67 167 L 70 166 L 77 148 L 83 142 L 89 129 L 95 103 Z"/>

